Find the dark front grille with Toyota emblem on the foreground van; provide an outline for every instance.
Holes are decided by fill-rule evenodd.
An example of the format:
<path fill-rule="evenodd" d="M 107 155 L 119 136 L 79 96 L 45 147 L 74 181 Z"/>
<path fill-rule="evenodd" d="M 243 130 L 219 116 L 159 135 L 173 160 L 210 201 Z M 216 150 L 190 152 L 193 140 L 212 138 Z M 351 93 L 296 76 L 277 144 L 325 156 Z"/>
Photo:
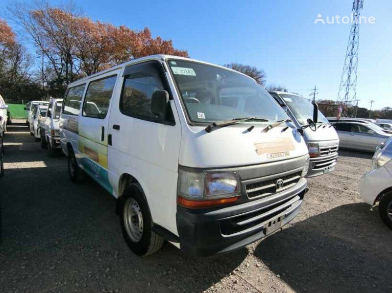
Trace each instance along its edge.
<path fill-rule="evenodd" d="M 246 184 L 246 193 L 248 198 L 264 197 L 280 192 L 286 188 L 294 186 L 301 179 L 302 171 L 297 171 L 282 177 L 276 177 L 269 180 L 260 180 L 253 183 Z M 278 180 L 283 180 L 283 183 L 278 187 Z"/>

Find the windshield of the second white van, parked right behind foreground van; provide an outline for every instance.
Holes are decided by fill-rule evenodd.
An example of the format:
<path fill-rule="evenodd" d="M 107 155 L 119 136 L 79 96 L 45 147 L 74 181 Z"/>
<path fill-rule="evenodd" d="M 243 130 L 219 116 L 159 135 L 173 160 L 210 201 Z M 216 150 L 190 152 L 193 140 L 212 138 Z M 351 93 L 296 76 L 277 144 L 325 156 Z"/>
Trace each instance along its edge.
<path fill-rule="evenodd" d="M 313 120 L 313 104 L 309 100 L 294 94 L 279 94 L 279 96 L 293 112 L 299 124 L 307 125 L 308 119 Z M 327 118 L 325 118 L 320 111 L 318 115 L 318 122 L 329 123 Z"/>

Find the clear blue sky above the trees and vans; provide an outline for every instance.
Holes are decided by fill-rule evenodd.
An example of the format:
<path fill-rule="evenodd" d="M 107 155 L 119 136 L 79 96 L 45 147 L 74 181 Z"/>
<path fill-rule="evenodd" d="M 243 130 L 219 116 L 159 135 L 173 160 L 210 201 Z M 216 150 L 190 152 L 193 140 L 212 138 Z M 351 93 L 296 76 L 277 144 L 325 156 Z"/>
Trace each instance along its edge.
<path fill-rule="evenodd" d="M 53 4 L 59 1 L 50 1 Z M 74 0 L 93 20 L 149 27 L 172 39 L 192 58 L 215 64 L 238 62 L 264 69 L 277 84 L 318 98 L 338 95 L 350 24 L 314 24 L 319 13 L 349 16 L 352 0 Z M 9 2 L 0 0 L 0 9 Z M 359 106 L 392 107 L 392 1 L 365 0 L 361 24 L 357 98 Z"/>

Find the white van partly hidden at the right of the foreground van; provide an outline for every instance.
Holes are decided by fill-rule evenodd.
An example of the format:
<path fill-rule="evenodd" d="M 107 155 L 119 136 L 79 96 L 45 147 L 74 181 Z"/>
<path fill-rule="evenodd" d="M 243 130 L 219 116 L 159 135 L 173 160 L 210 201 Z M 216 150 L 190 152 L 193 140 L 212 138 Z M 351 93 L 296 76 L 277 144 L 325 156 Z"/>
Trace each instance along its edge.
<path fill-rule="evenodd" d="M 294 93 L 269 92 L 302 132 L 310 156 L 307 177 L 333 171 L 338 160 L 339 136 L 317 104 Z"/>

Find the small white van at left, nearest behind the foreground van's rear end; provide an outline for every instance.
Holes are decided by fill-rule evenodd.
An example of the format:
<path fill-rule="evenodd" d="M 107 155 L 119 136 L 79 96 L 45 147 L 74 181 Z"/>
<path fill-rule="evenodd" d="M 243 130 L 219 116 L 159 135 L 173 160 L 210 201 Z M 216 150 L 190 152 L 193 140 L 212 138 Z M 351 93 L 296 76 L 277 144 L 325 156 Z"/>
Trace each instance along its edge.
<path fill-rule="evenodd" d="M 41 147 L 46 148 L 48 156 L 53 157 L 60 144 L 60 115 L 63 99 L 50 99 L 46 117 L 40 120 Z"/>

